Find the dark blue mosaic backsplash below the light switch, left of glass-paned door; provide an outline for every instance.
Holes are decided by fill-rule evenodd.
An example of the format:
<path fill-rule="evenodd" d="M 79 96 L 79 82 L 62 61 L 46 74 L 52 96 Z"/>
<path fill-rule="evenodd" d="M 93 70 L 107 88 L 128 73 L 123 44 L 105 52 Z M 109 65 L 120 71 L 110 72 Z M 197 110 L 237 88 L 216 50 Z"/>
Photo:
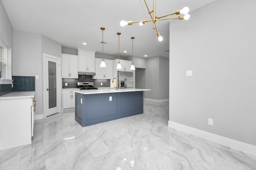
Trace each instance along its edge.
<path fill-rule="evenodd" d="M 36 91 L 35 76 L 12 76 L 13 92 Z"/>

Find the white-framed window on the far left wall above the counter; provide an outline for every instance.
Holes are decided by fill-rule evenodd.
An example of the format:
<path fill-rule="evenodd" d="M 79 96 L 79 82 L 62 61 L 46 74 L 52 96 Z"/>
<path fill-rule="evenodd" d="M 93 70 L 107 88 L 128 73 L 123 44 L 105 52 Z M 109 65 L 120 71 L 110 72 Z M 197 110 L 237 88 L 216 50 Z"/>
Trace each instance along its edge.
<path fill-rule="evenodd" d="M 0 41 L 0 77 L 6 78 L 6 68 L 7 68 L 7 48 Z"/>

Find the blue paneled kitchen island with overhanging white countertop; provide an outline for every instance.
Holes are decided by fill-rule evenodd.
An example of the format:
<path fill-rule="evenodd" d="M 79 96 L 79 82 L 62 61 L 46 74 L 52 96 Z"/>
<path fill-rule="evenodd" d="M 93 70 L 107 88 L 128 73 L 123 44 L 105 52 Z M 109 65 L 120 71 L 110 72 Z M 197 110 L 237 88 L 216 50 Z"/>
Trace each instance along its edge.
<path fill-rule="evenodd" d="M 94 125 L 143 113 L 143 92 L 149 89 L 114 88 L 77 90 L 75 120 Z"/>

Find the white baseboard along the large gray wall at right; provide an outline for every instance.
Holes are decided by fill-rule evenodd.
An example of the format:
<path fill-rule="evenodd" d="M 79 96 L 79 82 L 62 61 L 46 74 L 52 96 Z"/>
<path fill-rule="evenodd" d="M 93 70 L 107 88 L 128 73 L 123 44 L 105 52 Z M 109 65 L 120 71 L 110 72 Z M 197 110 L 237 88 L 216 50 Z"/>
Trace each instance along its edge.
<path fill-rule="evenodd" d="M 182 125 L 180 123 L 176 123 L 173 121 L 168 121 L 168 127 L 172 127 L 174 129 L 178 129 L 180 131 L 201 137 L 203 139 L 207 139 L 209 141 L 213 141 L 215 143 L 219 143 L 221 145 L 236 149 L 236 150 L 240 150 L 242 152 L 246 152 L 252 155 L 256 155 L 256 146 L 254 145 L 250 145 L 247 143 L 243 143 L 240 141 L 236 141 L 234 139 L 230 139 L 227 137 L 222 137 L 220 135 L 216 135 L 214 133 L 210 133 L 210 132 L 206 132 L 206 131 L 202 131 L 200 129 L 196 129 L 193 127 L 189 127 L 186 125 Z"/>

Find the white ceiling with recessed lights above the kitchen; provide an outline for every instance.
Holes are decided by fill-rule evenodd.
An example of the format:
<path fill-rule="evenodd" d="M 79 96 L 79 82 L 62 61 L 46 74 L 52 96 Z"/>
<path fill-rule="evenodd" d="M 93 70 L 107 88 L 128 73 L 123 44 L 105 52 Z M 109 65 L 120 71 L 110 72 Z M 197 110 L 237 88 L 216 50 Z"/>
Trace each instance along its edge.
<path fill-rule="evenodd" d="M 182 9 L 190 12 L 214 0 L 156 0 L 156 16 L 164 16 Z M 104 53 L 120 57 L 169 57 L 169 21 L 157 21 L 156 26 L 164 40 L 158 41 L 152 22 L 120 26 L 121 20 L 149 20 L 143 0 L 2 0 L 13 29 L 39 33 L 62 44 L 63 47 L 81 48 L 102 53 L 102 30 L 105 27 Z M 153 0 L 147 0 L 150 10 Z M 193 16 L 191 15 L 191 18 Z M 186 22 L 185 20 L 180 20 Z M 86 42 L 87 45 L 82 45 Z M 126 50 L 127 53 L 123 53 Z"/>

